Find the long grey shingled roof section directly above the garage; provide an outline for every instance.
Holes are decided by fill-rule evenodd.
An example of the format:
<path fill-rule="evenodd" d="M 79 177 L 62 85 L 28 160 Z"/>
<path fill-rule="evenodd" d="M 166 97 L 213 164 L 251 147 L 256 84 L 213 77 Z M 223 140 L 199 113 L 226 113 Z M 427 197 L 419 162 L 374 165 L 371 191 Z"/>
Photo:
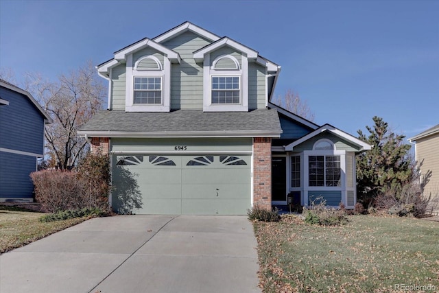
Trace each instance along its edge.
<path fill-rule="evenodd" d="M 280 137 L 281 133 L 277 111 L 266 109 L 149 113 L 102 110 L 78 130 L 82 137 Z"/>

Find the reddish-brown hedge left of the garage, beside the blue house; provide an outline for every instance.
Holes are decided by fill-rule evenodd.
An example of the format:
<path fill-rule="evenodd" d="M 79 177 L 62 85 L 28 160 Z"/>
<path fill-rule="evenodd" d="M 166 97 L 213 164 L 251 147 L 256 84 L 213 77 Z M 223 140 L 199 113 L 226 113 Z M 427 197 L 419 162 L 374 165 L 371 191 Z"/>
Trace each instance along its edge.
<path fill-rule="evenodd" d="M 88 154 L 78 168 L 43 170 L 30 174 L 35 198 L 41 209 L 58 211 L 97 208 L 109 211 L 110 160 L 108 156 Z"/>

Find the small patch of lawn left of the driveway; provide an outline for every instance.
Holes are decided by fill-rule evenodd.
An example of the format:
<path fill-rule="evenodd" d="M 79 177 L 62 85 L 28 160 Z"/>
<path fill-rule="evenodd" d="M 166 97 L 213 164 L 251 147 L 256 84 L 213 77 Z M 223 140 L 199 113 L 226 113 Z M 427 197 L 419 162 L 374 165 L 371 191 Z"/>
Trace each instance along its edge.
<path fill-rule="evenodd" d="M 72 218 L 55 222 L 40 222 L 45 213 L 0 205 L 0 253 L 5 253 L 83 222 L 87 218 Z"/>

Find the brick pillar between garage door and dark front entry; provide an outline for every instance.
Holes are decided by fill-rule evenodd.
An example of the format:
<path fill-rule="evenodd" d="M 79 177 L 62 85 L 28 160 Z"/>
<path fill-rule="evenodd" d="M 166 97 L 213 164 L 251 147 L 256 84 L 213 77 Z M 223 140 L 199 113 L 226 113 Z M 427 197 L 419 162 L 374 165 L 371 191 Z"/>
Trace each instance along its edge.
<path fill-rule="evenodd" d="M 272 139 L 253 139 L 253 204 L 272 208 Z"/>

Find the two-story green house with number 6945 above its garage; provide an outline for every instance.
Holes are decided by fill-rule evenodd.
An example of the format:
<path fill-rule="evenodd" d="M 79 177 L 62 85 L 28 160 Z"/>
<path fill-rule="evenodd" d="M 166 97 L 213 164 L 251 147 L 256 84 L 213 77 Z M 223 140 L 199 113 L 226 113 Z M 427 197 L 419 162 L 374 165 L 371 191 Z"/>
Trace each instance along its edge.
<path fill-rule="evenodd" d="M 113 208 L 129 200 L 130 178 L 143 202 L 135 213 L 242 215 L 288 194 L 354 207 L 355 154 L 370 145 L 272 104 L 281 67 L 254 49 L 186 22 L 97 71 L 108 110 L 78 134 L 111 155 Z"/>

